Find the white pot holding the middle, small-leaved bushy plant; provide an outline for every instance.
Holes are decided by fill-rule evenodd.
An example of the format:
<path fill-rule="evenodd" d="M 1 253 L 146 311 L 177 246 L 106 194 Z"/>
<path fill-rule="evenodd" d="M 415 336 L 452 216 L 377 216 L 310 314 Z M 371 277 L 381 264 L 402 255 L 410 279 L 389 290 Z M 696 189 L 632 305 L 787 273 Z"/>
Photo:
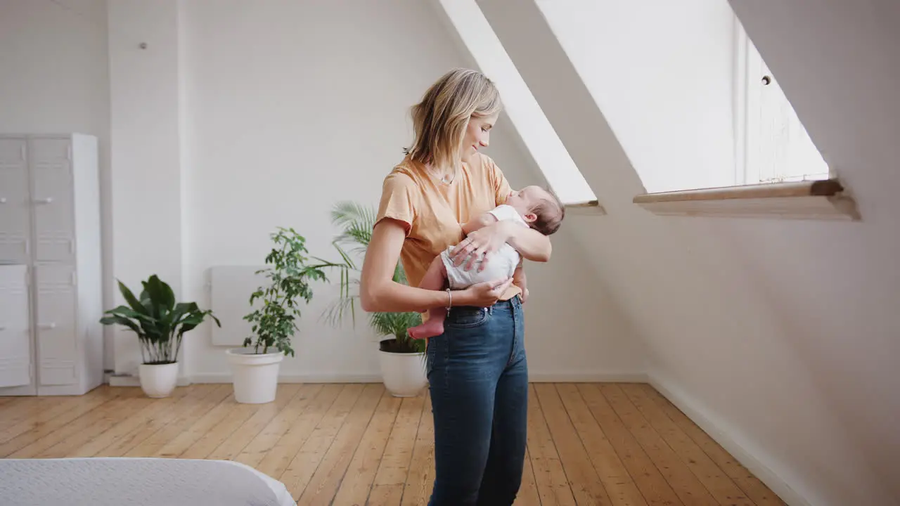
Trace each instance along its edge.
<path fill-rule="evenodd" d="M 244 404 L 275 401 L 278 390 L 278 366 L 284 359 L 280 351 L 254 354 L 253 348 L 226 350 L 231 365 L 234 400 Z"/>

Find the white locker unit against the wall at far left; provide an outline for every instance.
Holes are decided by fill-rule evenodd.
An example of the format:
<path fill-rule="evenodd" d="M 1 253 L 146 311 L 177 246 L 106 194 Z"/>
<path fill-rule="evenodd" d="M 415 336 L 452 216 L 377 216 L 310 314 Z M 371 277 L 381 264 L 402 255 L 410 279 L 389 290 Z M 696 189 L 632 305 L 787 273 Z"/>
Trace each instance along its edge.
<path fill-rule="evenodd" d="M 0 135 L 0 395 L 103 383 L 96 138 Z"/>

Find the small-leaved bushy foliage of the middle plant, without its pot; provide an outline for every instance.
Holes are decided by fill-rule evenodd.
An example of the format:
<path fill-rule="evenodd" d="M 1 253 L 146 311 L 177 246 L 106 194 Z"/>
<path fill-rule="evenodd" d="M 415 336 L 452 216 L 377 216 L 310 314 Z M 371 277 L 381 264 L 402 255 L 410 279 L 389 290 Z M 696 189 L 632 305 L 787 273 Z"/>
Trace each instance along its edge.
<path fill-rule="evenodd" d="M 250 305 L 258 300 L 262 307 L 250 312 L 244 320 L 253 323 L 256 339 L 244 339 L 244 346 L 253 345 L 255 354 L 268 353 L 275 348 L 284 355 L 294 356 L 291 338 L 298 330 L 297 319 L 301 317 L 299 302 L 312 300 L 312 281 L 328 281 L 324 267 L 333 267 L 329 262 L 310 264 L 307 257 L 306 239 L 290 228 L 279 227 L 270 236 L 275 246 L 266 256 L 266 264 L 271 267 L 260 269 L 269 284 L 260 286 L 250 295 Z M 319 258 L 316 258 L 320 261 Z"/>

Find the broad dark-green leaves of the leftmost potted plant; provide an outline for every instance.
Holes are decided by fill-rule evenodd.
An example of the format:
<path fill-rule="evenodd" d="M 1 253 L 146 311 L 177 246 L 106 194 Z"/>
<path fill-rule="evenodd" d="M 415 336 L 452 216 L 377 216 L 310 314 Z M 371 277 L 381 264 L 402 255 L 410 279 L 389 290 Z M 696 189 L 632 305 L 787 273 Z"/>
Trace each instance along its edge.
<path fill-rule="evenodd" d="M 140 357 L 144 364 L 172 364 L 178 361 L 178 350 L 184 333 L 193 330 L 209 316 L 221 323 L 211 310 L 201 310 L 197 303 L 175 303 L 175 293 L 157 275 L 141 281 L 143 291 L 135 297 L 128 286 L 119 282 L 119 291 L 128 305 L 103 314 L 103 325 L 123 325 L 134 331 L 140 341 Z"/>

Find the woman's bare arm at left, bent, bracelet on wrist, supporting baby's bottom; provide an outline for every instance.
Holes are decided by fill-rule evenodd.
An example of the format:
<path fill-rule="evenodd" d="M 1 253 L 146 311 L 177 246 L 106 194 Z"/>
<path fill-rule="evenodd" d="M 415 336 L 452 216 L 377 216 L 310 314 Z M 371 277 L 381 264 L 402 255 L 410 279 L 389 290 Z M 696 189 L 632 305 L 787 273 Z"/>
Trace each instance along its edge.
<path fill-rule="evenodd" d="M 446 307 L 450 295 L 443 291 L 425 290 L 393 281 L 394 267 L 406 232 L 400 221 L 385 219 L 372 230 L 366 248 L 363 274 L 360 276 L 360 302 L 365 312 L 427 312 Z M 496 303 L 512 283 L 512 278 L 470 286 L 453 293 L 453 305 L 488 307 Z"/>

